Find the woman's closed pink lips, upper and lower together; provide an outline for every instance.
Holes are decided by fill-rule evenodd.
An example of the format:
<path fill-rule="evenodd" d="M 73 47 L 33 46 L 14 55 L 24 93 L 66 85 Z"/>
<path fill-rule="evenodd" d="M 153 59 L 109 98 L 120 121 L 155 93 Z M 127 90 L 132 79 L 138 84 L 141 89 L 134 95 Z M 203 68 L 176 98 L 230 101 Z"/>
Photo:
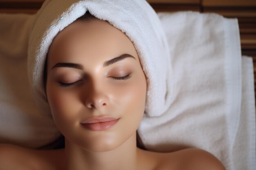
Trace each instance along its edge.
<path fill-rule="evenodd" d="M 91 131 L 103 131 L 114 126 L 119 119 L 113 117 L 92 117 L 83 121 L 81 125 Z"/>

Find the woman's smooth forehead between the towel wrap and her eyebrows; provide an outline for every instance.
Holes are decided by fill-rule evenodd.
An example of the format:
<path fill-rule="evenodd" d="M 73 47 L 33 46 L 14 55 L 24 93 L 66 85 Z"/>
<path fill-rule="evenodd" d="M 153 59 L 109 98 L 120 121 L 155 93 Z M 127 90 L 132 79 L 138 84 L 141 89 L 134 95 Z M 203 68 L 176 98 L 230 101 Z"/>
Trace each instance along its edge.
<path fill-rule="evenodd" d="M 123 53 L 138 59 L 135 47 L 125 33 L 107 21 L 79 20 L 56 35 L 49 48 L 48 60 L 55 63 L 70 60 L 70 57 L 85 56 L 111 59 Z"/>

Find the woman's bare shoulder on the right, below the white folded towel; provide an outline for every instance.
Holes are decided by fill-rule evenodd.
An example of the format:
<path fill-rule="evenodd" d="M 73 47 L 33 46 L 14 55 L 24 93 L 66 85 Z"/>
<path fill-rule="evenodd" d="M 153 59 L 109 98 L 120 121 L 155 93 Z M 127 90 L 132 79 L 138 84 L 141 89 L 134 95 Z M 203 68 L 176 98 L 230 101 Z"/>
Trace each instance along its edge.
<path fill-rule="evenodd" d="M 211 153 L 197 149 L 187 148 L 165 155 L 164 162 L 160 163 L 159 170 L 226 170 L 222 163 Z"/>

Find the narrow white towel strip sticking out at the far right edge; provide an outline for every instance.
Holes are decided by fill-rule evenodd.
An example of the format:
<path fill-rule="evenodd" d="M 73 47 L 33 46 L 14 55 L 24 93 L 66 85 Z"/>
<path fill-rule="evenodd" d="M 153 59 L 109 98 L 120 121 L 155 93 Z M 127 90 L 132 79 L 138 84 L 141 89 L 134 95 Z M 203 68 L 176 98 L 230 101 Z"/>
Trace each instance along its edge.
<path fill-rule="evenodd" d="M 235 170 L 256 170 L 254 67 L 252 57 L 242 57 L 242 102 L 232 150 Z"/>

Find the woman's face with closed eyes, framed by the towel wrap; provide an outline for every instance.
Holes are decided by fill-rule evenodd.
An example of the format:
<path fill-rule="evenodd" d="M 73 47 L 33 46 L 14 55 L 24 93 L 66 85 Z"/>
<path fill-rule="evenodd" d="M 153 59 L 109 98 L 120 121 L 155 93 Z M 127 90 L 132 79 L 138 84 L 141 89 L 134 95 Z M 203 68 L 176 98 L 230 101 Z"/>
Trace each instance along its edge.
<path fill-rule="evenodd" d="M 56 35 L 47 57 L 49 106 L 69 141 L 101 152 L 136 133 L 146 77 L 124 33 L 103 20 L 76 21 Z"/>

